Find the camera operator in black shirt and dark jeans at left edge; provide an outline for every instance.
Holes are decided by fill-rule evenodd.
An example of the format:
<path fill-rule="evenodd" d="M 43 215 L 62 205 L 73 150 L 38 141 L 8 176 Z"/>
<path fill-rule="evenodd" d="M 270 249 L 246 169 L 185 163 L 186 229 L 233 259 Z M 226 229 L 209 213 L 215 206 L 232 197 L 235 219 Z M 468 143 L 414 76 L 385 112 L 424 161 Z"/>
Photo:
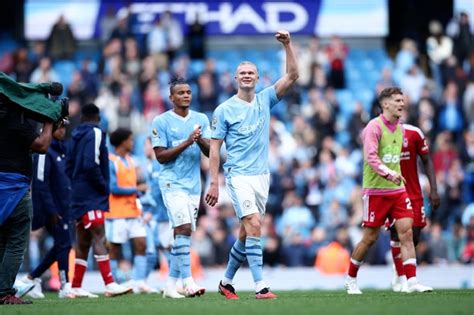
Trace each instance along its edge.
<path fill-rule="evenodd" d="M 31 154 L 46 153 L 53 123 L 45 122 L 38 134 L 35 121 L 21 108 L 5 106 L 5 102 L 0 100 L 4 108 L 0 116 L 0 304 L 30 304 L 15 297 L 13 283 L 31 227 Z"/>

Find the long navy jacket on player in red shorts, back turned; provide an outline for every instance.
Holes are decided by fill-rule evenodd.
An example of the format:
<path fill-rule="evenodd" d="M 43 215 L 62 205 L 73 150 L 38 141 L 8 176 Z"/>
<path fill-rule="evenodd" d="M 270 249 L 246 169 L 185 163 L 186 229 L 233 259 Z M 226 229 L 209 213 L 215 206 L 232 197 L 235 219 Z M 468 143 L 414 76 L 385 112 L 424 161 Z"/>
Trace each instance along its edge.
<path fill-rule="evenodd" d="M 74 219 L 90 210 L 109 210 L 109 153 L 105 132 L 82 123 L 72 132 L 66 173 L 71 179 Z"/>

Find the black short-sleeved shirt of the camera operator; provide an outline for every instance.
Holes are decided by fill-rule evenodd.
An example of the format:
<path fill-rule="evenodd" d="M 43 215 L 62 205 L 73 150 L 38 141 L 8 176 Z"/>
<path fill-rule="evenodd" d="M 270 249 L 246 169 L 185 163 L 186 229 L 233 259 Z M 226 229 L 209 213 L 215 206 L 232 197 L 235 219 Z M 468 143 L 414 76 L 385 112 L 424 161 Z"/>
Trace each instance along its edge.
<path fill-rule="evenodd" d="M 19 111 L 8 110 L 0 118 L 0 172 L 32 176 L 31 144 L 38 137 L 36 122 L 22 117 Z"/>

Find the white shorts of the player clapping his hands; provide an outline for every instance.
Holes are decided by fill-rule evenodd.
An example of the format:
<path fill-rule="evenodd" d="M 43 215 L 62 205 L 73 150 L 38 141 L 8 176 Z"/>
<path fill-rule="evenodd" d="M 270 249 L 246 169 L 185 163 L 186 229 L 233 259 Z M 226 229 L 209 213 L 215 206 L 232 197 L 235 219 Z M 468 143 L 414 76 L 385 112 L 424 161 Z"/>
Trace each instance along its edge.
<path fill-rule="evenodd" d="M 189 195 L 184 191 L 162 191 L 163 202 L 168 210 L 171 227 L 174 229 L 183 224 L 191 224 L 196 229 L 199 210 L 199 195 Z"/>

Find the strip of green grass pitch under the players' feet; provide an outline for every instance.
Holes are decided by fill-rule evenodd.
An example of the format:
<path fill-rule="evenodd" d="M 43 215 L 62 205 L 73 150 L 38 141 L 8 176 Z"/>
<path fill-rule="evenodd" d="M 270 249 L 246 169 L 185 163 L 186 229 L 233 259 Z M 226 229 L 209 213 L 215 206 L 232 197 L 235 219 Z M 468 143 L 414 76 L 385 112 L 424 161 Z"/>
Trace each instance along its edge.
<path fill-rule="evenodd" d="M 227 301 L 217 293 L 194 299 L 162 299 L 159 295 L 59 300 L 48 294 L 32 305 L 0 305 L 0 314 L 163 314 L 163 315 L 326 315 L 326 314 L 474 314 L 474 290 L 436 290 L 425 294 L 364 291 L 349 296 L 342 291 L 276 292 L 277 300 L 258 301 L 250 292 Z"/>

